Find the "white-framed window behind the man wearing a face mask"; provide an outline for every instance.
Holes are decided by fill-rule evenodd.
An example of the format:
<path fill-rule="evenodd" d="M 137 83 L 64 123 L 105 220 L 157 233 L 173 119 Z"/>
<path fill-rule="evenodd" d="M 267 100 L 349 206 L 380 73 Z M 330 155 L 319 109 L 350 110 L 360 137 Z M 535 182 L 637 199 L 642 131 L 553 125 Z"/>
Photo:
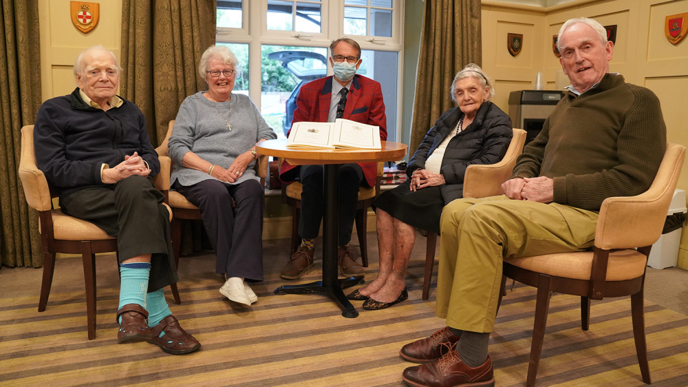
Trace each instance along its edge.
<path fill-rule="evenodd" d="M 237 56 L 234 92 L 247 94 L 280 138 L 291 126 L 301 85 L 331 75 L 330 43 L 361 45 L 357 74 L 382 85 L 387 138 L 397 140 L 401 85 L 398 0 L 217 0 L 217 44 Z"/>

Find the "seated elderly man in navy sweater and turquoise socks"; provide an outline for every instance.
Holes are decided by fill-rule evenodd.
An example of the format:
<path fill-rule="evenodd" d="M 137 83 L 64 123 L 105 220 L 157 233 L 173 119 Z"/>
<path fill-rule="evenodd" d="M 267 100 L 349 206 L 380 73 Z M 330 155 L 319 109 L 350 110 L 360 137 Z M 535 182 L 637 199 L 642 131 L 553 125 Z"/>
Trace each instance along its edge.
<path fill-rule="evenodd" d="M 117 237 L 120 344 L 148 341 L 181 355 L 201 344 L 172 315 L 164 286 L 177 281 L 169 212 L 151 178 L 160 172 L 141 111 L 120 98 L 120 67 L 101 46 L 79 54 L 78 87 L 45 101 L 34 125 L 36 163 L 64 213 Z"/>

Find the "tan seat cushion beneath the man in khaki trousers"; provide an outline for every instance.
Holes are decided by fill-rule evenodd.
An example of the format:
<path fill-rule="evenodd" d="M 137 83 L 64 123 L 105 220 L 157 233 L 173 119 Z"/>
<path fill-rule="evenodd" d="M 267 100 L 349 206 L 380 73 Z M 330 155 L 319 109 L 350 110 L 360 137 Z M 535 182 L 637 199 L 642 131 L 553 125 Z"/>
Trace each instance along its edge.
<path fill-rule="evenodd" d="M 590 280 L 592 255 L 592 251 L 556 253 L 509 258 L 506 262 L 537 273 L 577 280 Z M 645 273 L 645 264 L 647 264 L 647 257 L 636 250 L 610 251 L 607 280 L 623 281 L 638 278 Z"/>

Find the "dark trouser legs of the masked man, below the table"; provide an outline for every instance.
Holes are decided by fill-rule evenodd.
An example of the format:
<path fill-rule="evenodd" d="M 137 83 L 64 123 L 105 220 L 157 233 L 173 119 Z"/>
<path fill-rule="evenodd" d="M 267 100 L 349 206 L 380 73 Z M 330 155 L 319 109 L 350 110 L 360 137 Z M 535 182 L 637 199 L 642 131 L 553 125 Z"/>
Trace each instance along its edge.
<path fill-rule="evenodd" d="M 299 236 L 304 239 L 314 239 L 320 232 L 325 207 L 324 173 L 323 165 L 302 165 L 299 169 L 299 180 L 303 184 Z M 344 164 L 339 168 L 339 246 L 344 246 L 351 240 L 361 182 L 363 170 L 358 164 Z"/>

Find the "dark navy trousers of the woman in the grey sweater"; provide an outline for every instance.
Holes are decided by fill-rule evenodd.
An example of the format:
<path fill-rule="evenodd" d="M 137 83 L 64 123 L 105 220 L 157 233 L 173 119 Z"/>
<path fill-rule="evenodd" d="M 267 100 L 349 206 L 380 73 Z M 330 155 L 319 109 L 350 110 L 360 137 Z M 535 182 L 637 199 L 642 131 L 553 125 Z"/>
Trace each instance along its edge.
<path fill-rule="evenodd" d="M 173 188 L 201 210 L 217 257 L 215 272 L 262 281 L 264 191 L 260 183 L 246 180 L 230 185 L 208 179 L 188 187 L 175 182 Z"/>

